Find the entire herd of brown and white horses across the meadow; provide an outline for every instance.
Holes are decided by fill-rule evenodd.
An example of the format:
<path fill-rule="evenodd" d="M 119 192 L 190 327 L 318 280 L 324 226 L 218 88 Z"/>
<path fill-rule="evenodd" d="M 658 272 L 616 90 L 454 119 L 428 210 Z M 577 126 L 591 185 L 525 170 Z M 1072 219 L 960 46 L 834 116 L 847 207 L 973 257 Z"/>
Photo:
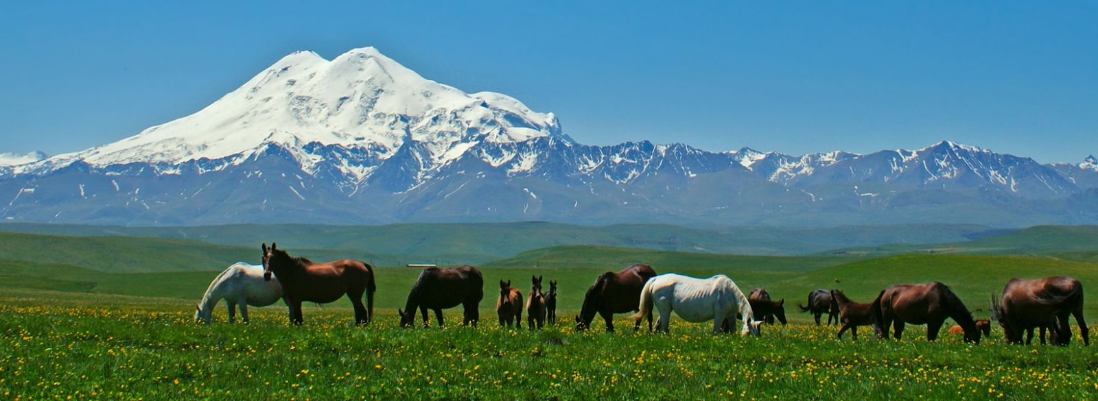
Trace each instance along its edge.
<path fill-rule="evenodd" d="M 209 323 L 214 306 L 224 299 L 228 305 L 228 320 L 234 322 L 235 309 L 248 321 L 248 306 L 264 307 L 282 299 L 289 309 L 292 324 L 304 321 L 302 302 L 328 303 L 344 296 L 355 310 L 355 324 L 368 324 L 373 319 L 373 296 L 378 287 L 374 270 L 367 263 L 341 260 L 314 263 L 305 257 L 290 256 L 278 245 L 261 245 L 262 265 L 236 263 L 214 278 L 202 300 L 195 306 L 195 320 Z M 542 287 L 542 276 L 530 277 L 526 293 L 512 286 L 511 280 L 500 280 L 496 312 L 500 325 L 522 328 L 526 312 L 527 328 L 541 329 L 546 323 L 557 323 L 557 282 Z M 444 324 L 442 310 L 461 306 L 463 325 L 477 325 L 480 302 L 484 298 L 484 278 L 472 266 L 425 268 L 408 291 L 404 308 L 397 309 L 400 325 L 415 325 L 419 311 L 423 325 L 429 326 L 427 310 L 435 312 L 438 325 Z M 366 303 L 363 305 L 363 297 Z M 1090 344 L 1089 331 L 1083 319 L 1083 285 L 1071 277 L 1040 279 L 1013 278 L 1002 294 L 991 296 L 991 319 L 998 322 L 1009 343 L 1030 344 L 1034 330 L 1041 343 L 1068 345 L 1072 330 L 1068 319 L 1074 317 L 1083 342 Z M 742 320 L 741 335 L 761 335 L 763 323 L 775 320 L 786 323 L 785 300 L 772 300 L 762 288 L 748 296 L 724 275 L 696 278 L 674 273 L 659 275 L 651 266 L 637 264 L 614 273 L 606 272 L 595 278 L 583 297 L 575 329 L 589 329 L 595 316 L 603 318 L 606 331 L 614 331 L 614 316 L 632 313 L 634 330 L 647 320 L 649 331 L 666 332 L 671 312 L 688 322 L 713 322 L 714 333 L 727 333 L 737 320 Z M 870 302 L 856 302 L 839 289 L 816 289 L 808 294 L 807 306 L 798 305 L 821 324 L 840 324 L 837 336 L 850 331 L 858 339 L 858 328 L 873 326 L 879 339 L 889 334 L 900 340 L 907 324 L 927 326 L 927 340 L 934 341 L 946 319 L 957 323 L 951 333 L 962 334 L 965 342 L 979 343 L 990 334 L 990 321 L 975 320 L 953 290 L 938 282 L 918 285 L 894 285 L 881 290 Z M 658 314 L 654 319 L 653 314 Z M 1024 340 L 1023 340 L 1024 337 Z"/>

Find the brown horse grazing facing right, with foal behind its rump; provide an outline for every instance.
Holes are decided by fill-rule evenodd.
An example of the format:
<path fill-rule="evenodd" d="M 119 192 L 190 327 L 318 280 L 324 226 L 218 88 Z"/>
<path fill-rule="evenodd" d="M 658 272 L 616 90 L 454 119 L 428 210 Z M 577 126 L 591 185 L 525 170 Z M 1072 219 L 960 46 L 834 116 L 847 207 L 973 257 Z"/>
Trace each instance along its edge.
<path fill-rule="evenodd" d="M 965 342 L 979 344 L 979 329 L 968 308 L 949 286 L 939 282 L 885 288 L 879 301 L 873 305 L 873 314 L 877 318 L 877 335 L 885 340 L 888 326 L 895 322 L 896 340 L 903 336 L 904 324 L 910 323 L 926 324 L 927 340 L 934 341 L 942 323 L 950 318 L 964 330 Z"/>

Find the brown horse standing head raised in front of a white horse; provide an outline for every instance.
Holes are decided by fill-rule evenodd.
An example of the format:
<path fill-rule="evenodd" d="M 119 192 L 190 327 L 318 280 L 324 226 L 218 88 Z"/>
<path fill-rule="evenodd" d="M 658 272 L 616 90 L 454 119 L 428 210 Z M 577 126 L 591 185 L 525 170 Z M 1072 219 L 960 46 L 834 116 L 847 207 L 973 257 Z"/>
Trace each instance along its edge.
<path fill-rule="evenodd" d="M 367 324 L 373 318 L 373 293 L 378 290 L 373 279 L 373 266 L 343 260 L 328 263 L 313 263 L 304 257 L 291 257 L 289 253 L 262 244 L 264 278 L 271 274 L 282 283 L 282 300 L 290 308 L 290 323 L 301 324 L 301 302 L 328 303 L 344 295 L 355 307 L 355 324 Z M 362 306 L 366 295 L 369 308 Z"/>

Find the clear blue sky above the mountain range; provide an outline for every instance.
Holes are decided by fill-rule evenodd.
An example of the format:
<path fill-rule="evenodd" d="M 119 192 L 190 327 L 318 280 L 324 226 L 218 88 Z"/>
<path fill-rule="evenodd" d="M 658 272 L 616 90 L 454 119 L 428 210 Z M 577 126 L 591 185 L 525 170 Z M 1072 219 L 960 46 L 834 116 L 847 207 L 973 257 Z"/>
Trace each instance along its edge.
<path fill-rule="evenodd" d="M 292 50 L 376 46 L 554 112 L 584 144 L 1098 153 L 1094 2 L 347 3 L 8 3 L 0 152 L 111 142 Z"/>

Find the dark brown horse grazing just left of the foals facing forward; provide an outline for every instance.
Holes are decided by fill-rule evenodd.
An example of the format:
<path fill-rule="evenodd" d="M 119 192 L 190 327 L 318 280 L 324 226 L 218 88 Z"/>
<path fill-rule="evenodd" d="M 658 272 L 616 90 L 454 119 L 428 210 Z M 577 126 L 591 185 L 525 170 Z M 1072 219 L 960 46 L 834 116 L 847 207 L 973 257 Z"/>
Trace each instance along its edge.
<path fill-rule="evenodd" d="M 401 326 L 411 328 L 415 320 L 415 310 L 419 309 L 423 325 L 426 328 L 429 325 L 427 309 L 430 309 L 435 311 L 438 326 L 441 328 L 442 309 L 460 305 L 464 308 L 464 319 L 461 324 L 475 326 L 480 320 L 478 308 L 483 298 L 484 277 L 477 267 L 428 267 L 419 273 L 419 278 L 412 285 L 404 310 L 397 309 L 396 313 L 401 316 Z"/>

